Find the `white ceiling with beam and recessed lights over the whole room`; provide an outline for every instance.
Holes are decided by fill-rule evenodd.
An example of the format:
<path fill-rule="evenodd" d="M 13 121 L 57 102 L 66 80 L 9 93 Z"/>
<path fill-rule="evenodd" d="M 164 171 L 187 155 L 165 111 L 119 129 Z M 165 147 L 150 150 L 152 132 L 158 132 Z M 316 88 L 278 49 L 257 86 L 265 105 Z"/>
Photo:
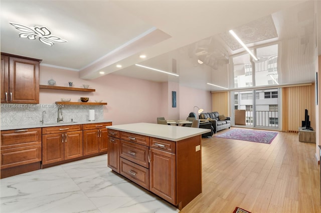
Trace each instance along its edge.
<path fill-rule="evenodd" d="M 312 59 L 301 63 L 309 65 L 292 64 L 289 71 L 290 65 L 282 64 L 286 71 L 279 74 L 281 83 L 297 83 L 302 81 L 302 67 L 303 80 L 314 79 L 310 67 L 315 67 L 315 41 L 321 43 L 321 36 L 314 37 L 314 29 L 321 29 L 315 22 L 320 8 L 320 2 L 305 0 L 1 0 L 0 47 L 2 52 L 43 59 L 42 65 L 79 71 L 84 79 L 104 71 L 217 90 L 206 83 L 219 81 L 229 87 L 228 58 L 244 51 L 228 34 L 233 29 L 249 47 L 279 42 L 282 55 L 292 54 L 289 46 L 299 40 L 294 52 L 304 51 L 304 58 Z M 46 26 L 68 42 L 48 46 L 38 39 L 19 38 L 21 31 L 9 21 Z M 147 57 L 141 59 L 140 54 Z M 206 63 L 197 63 L 200 57 Z"/>

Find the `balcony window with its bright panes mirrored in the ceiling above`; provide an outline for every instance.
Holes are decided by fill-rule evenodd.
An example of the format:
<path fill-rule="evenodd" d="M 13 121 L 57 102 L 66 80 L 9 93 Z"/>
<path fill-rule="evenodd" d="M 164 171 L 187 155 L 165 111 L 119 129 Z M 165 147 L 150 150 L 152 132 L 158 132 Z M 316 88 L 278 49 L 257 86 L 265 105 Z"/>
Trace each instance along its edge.
<path fill-rule="evenodd" d="M 247 127 L 279 127 L 279 89 L 268 88 L 278 84 L 278 45 L 253 50 L 258 61 L 248 53 L 232 57 L 234 74 L 234 124 Z M 267 89 L 249 89 L 266 86 Z M 238 88 L 240 91 L 237 91 Z M 242 88 L 242 90 L 241 90 Z M 244 88 L 247 88 L 244 91 Z"/>

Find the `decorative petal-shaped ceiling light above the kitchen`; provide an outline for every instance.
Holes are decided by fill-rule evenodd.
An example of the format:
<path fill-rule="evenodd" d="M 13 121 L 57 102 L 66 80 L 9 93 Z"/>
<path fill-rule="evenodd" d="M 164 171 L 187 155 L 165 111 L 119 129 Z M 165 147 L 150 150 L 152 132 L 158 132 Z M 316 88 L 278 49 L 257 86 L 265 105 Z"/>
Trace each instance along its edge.
<path fill-rule="evenodd" d="M 23 31 L 19 33 L 19 37 L 29 38 L 34 40 L 39 37 L 39 40 L 44 44 L 52 46 L 55 42 L 67 42 L 67 40 L 62 39 L 56 35 L 52 35 L 51 31 L 45 26 L 25 26 L 19 23 L 9 22 L 16 29 Z"/>

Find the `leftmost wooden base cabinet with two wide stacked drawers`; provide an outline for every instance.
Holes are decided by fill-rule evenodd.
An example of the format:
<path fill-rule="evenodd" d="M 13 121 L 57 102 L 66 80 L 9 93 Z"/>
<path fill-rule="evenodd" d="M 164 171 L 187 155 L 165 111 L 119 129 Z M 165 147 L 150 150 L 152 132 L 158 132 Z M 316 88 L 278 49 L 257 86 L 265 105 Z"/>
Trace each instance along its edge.
<path fill-rule="evenodd" d="M 1 131 L 1 178 L 41 167 L 41 128 Z"/>

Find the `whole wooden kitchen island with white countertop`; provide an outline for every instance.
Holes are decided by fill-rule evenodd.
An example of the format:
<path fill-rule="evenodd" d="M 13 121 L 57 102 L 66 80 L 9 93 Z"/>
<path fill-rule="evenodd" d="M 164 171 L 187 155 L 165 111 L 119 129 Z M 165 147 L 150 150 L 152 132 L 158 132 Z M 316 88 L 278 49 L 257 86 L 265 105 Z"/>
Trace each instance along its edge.
<path fill-rule="evenodd" d="M 201 134 L 155 123 L 108 126 L 108 167 L 182 209 L 202 192 Z"/>

